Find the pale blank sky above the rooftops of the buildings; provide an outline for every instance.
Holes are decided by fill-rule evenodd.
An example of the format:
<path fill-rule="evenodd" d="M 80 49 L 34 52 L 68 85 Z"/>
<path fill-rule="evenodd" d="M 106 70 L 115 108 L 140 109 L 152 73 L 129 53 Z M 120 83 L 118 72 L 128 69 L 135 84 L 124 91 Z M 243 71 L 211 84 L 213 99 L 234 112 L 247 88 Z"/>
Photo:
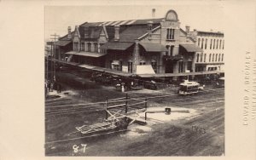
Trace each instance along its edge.
<path fill-rule="evenodd" d="M 222 3 L 165 5 L 116 5 L 116 6 L 46 6 L 44 8 L 45 40 L 50 35 L 65 36 L 67 26 L 79 26 L 84 22 L 137 20 L 163 18 L 170 9 L 177 12 L 181 28 L 190 26 L 190 30 L 224 31 Z"/>

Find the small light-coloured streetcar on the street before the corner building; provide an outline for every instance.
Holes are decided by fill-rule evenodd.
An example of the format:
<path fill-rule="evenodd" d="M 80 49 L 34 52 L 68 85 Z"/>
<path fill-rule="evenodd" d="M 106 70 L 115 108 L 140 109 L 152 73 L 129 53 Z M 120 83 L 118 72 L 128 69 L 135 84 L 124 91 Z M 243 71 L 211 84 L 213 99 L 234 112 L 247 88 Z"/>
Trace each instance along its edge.
<path fill-rule="evenodd" d="M 201 86 L 197 82 L 189 82 L 185 80 L 183 83 L 179 84 L 178 94 L 179 95 L 188 95 L 188 94 L 197 94 L 204 89 L 204 86 Z"/>

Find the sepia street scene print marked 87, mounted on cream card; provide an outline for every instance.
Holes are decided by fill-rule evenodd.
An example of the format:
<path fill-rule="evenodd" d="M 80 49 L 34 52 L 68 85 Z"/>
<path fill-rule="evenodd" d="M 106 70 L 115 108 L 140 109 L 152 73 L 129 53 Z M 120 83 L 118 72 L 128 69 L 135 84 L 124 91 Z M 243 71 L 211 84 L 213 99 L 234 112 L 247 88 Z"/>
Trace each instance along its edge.
<path fill-rule="evenodd" d="M 45 6 L 45 156 L 224 156 L 222 9 Z"/>

